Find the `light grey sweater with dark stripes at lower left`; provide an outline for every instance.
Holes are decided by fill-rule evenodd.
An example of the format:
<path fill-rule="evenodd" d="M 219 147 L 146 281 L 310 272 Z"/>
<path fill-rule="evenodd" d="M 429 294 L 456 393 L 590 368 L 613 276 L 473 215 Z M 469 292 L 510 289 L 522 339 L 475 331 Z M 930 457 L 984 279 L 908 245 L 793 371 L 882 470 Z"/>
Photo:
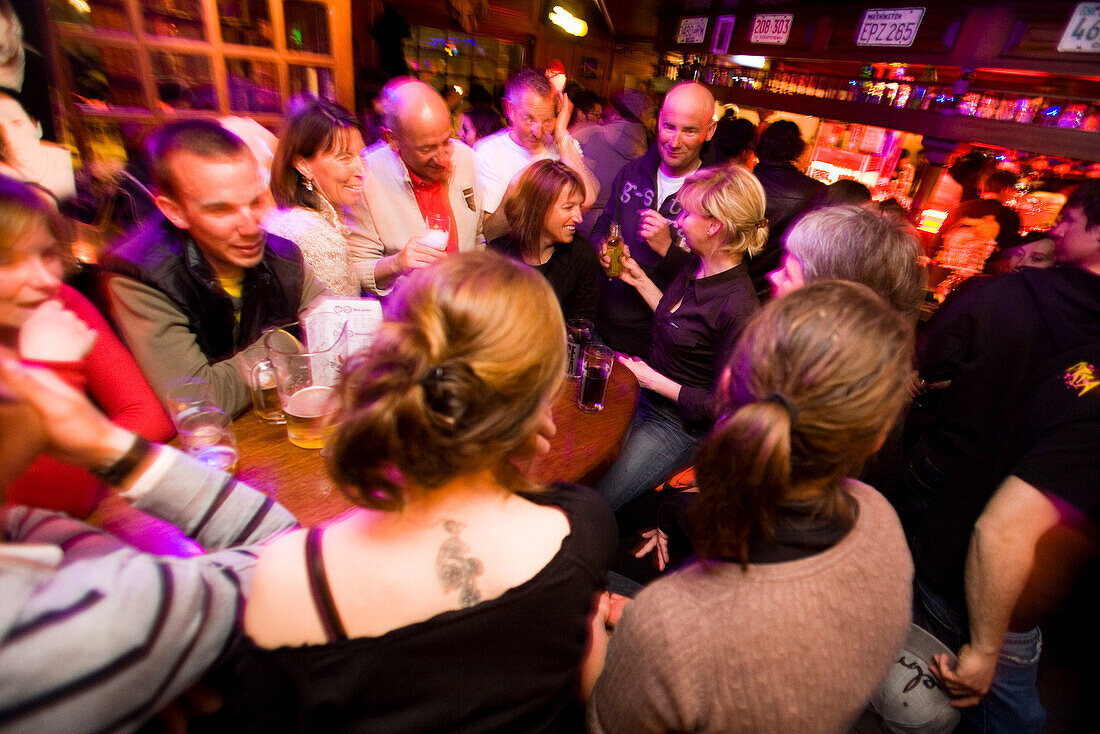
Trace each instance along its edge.
<path fill-rule="evenodd" d="M 295 519 L 174 449 L 153 473 L 132 504 L 209 552 L 153 556 L 67 515 L 3 512 L 0 732 L 133 731 L 226 649 L 256 560 L 250 546 Z"/>

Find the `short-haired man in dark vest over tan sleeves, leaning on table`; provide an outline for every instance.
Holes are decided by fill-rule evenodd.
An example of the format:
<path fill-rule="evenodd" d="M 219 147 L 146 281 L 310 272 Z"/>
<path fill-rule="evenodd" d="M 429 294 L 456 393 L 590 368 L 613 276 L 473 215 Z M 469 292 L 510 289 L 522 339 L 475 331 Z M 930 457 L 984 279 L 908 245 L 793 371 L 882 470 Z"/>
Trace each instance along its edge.
<path fill-rule="evenodd" d="M 111 316 L 153 390 L 197 376 L 244 409 L 234 355 L 264 327 L 324 295 L 298 248 L 266 234 L 271 197 L 248 145 L 216 122 L 161 130 L 151 146 L 156 216 L 103 259 Z"/>

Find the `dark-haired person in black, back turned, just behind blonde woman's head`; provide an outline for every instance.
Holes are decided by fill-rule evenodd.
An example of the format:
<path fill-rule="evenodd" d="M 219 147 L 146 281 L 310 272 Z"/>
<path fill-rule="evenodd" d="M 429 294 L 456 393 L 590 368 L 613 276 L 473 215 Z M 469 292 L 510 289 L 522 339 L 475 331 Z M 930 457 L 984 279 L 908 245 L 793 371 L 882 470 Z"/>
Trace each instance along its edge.
<path fill-rule="evenodd" d="M 769 297 L 768 273 L 776 270 L 783 252 L 783 235 L 799 215 L 809 210 L 822 196 L 825 184 L 814 180 L 795 167 L 806 150 L 799 125 L 791 120 L 776 120 L 760 133 L 756 153 L 760 162 L 752 173 L 768 195 L 768 243 L 749 263 L 749 275 L 761 300 Z"/>

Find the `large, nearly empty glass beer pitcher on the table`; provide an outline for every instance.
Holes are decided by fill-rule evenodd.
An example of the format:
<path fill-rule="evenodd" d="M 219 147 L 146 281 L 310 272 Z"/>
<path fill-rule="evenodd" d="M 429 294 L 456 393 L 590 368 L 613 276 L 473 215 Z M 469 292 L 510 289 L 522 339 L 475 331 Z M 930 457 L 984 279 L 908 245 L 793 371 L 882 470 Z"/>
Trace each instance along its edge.
<path fill-rule="evenodd" d="M 324 447 L 328 418 L 337 410 L 336 384 L 348 359 L 348 324 L 302 343 L 299 322 L 272 329 L 264 337 L 275 370 L 275 390 L 290 442 L 302 449 Z"/>

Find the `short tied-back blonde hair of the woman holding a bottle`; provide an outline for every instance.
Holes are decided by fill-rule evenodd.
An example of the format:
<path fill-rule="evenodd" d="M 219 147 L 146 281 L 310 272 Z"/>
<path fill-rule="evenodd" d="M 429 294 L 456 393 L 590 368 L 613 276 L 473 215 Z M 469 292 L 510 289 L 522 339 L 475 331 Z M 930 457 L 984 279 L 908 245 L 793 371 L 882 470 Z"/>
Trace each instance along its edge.
<path fill-rule="evenodd" d="M 744 166 L 701 168 L 688 177 L 676 195 L 680 206 L 716 219 L 725 232 L 722 249 L 751 258 L 768 241 L 763 186 Z"/>

